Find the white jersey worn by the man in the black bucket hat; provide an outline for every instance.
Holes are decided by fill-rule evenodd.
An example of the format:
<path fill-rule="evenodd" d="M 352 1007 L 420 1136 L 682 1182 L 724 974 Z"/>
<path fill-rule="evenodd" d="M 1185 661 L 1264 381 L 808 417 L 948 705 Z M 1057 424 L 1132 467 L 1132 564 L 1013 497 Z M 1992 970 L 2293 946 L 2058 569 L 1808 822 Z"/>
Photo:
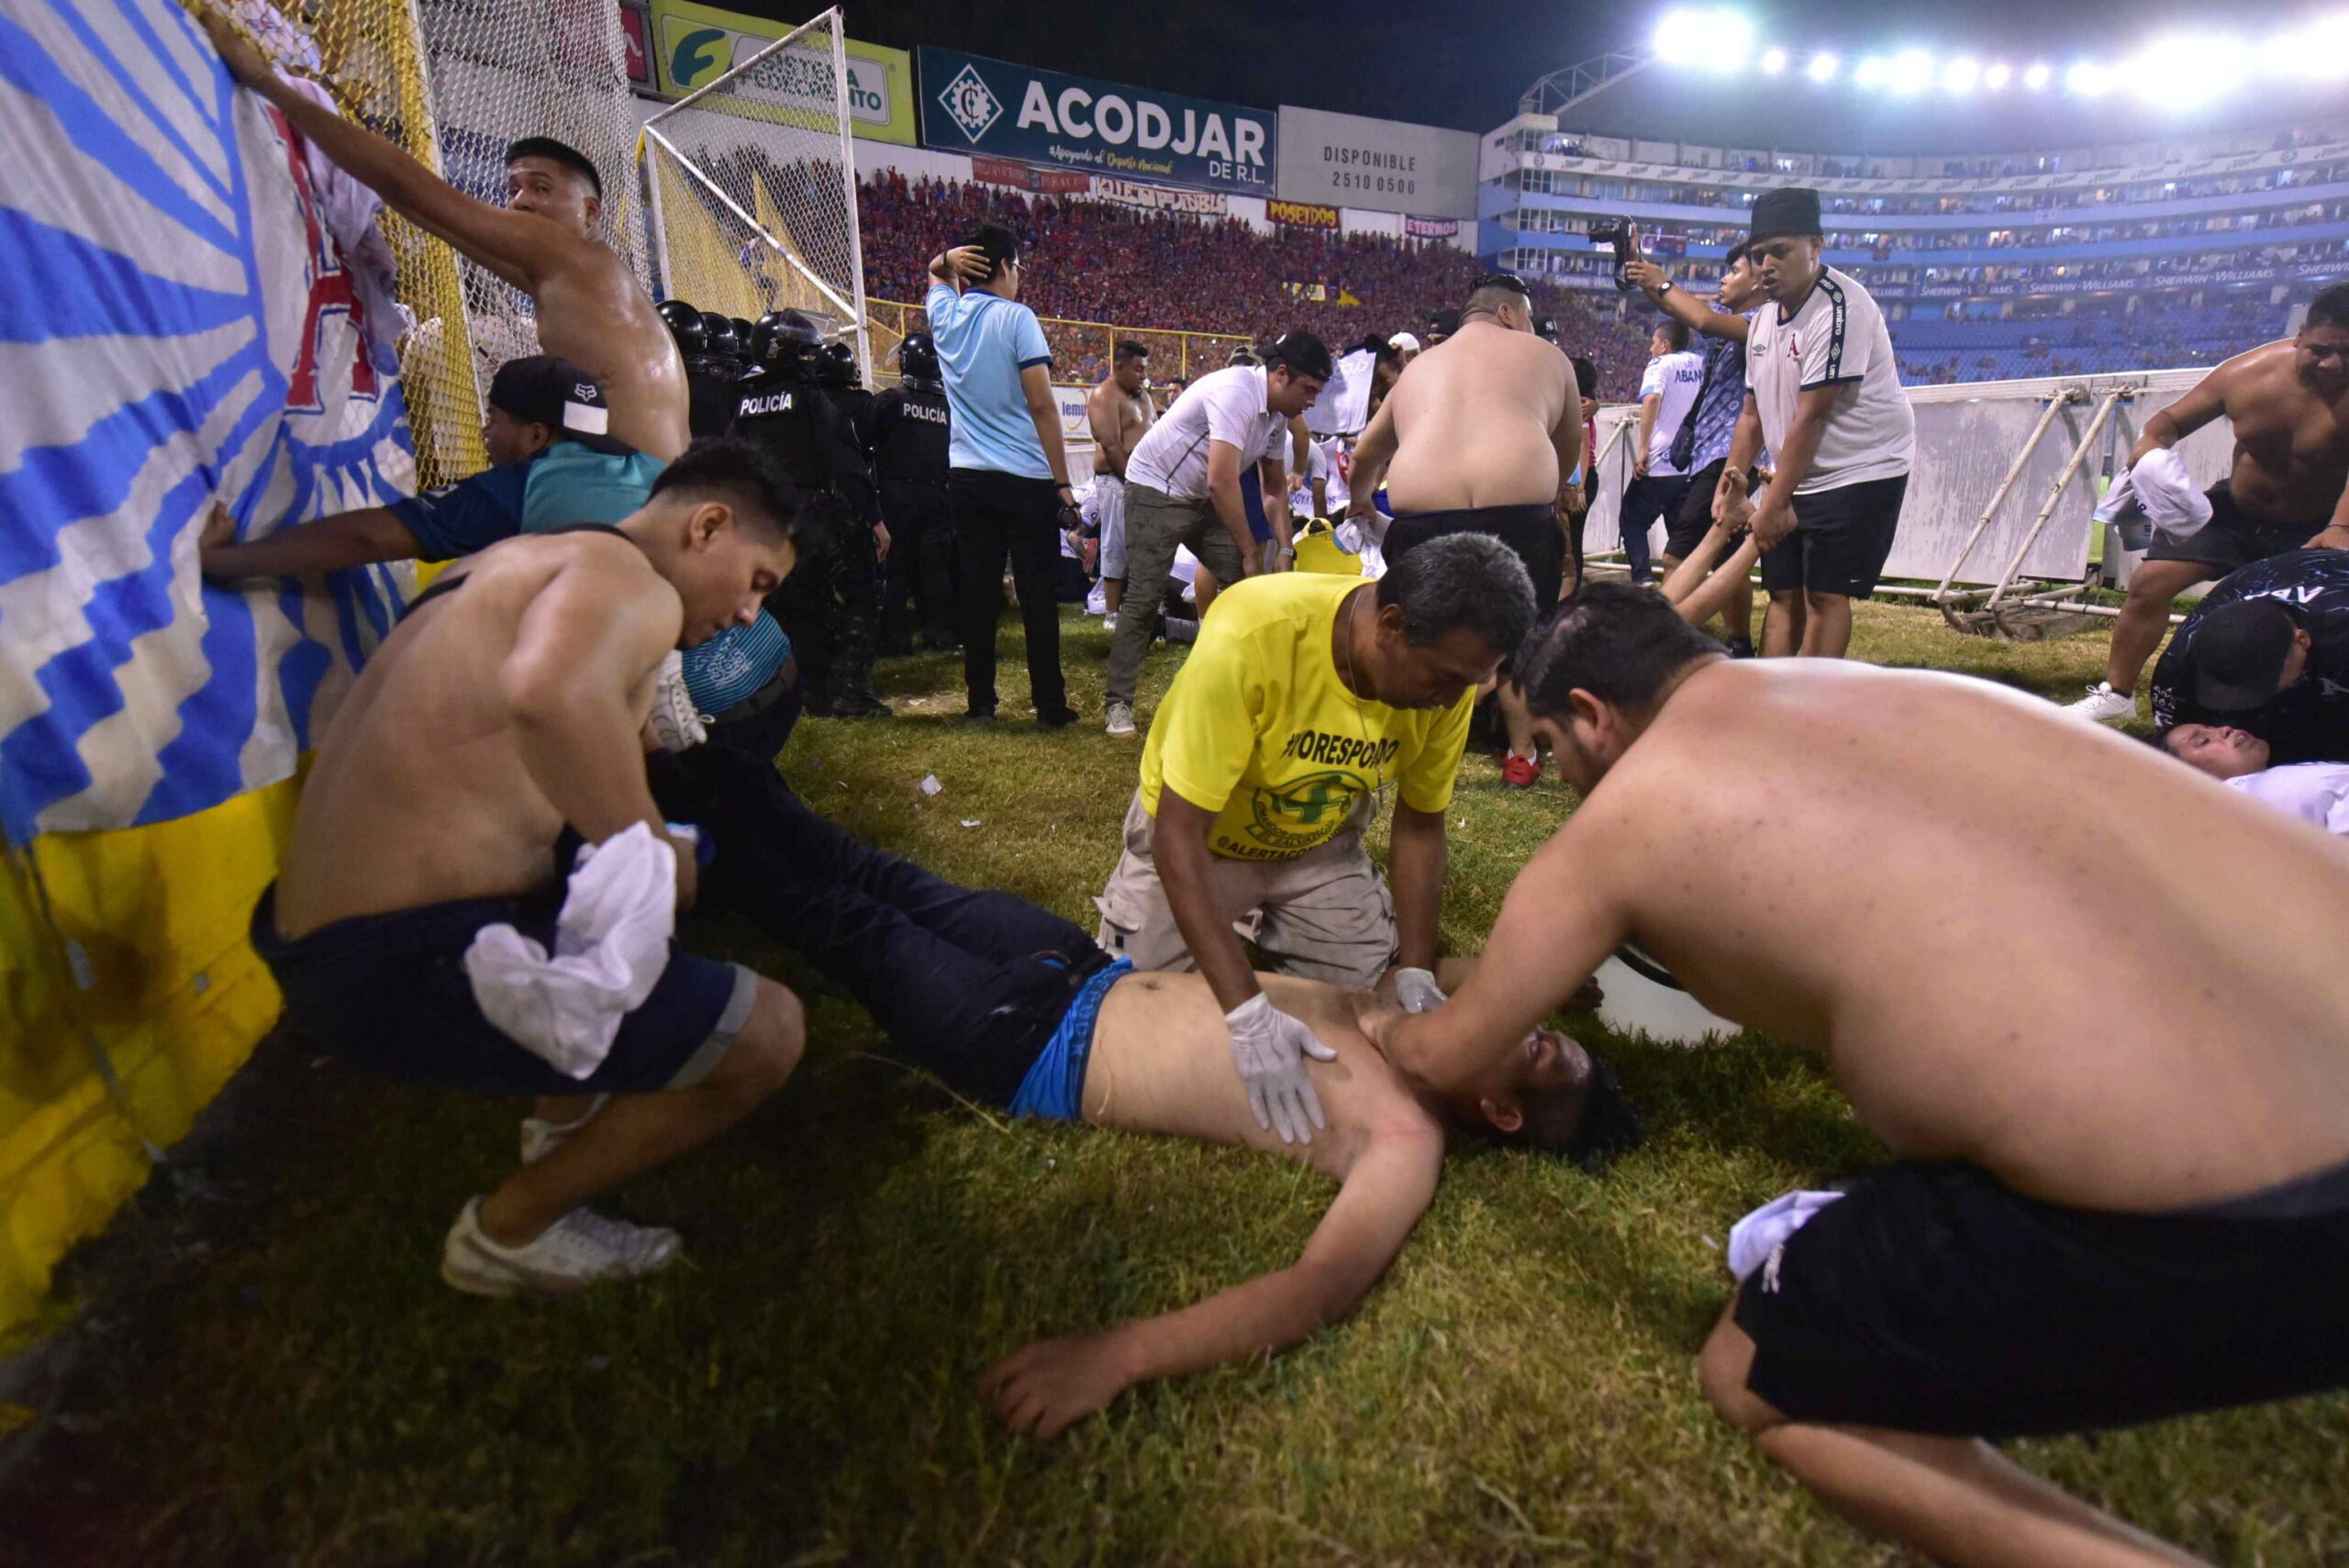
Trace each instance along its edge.
<path fill-rule="evenodd" d="M 1818 458 L 1797 495 L 1846 484 L 1896 479 L 1917 455 L 1917 415 L 1900 390 L 1893 336 L 1867 289 L 1846 272 L 1820 268 L 1818 284 L 1792 317 L 1762 305 L 1745 338 L 1745 385 L 1762 415 L 1762 441 L 1785 455 L 1795 411 L 1811 387 L 1842 387 L 1818 437 Z M 1658 420 L 1661 423 L 1661 420 Z"/>

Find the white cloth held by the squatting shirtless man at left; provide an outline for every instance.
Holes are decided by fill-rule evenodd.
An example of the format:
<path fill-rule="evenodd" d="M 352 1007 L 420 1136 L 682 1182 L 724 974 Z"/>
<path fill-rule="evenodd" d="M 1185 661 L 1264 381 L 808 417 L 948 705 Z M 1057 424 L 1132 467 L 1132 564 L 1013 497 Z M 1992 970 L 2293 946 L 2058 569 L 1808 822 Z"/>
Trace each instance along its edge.
<path fill-rule="evenodd" d="M 559 1073 L 587 1077 L 620 1019 L 669 967 L 677 850 L 644 822 L 583 845 L 554 927 L 554 953 L 512 925 L 484 925 L 465 948 L 482 1016 Z"/>

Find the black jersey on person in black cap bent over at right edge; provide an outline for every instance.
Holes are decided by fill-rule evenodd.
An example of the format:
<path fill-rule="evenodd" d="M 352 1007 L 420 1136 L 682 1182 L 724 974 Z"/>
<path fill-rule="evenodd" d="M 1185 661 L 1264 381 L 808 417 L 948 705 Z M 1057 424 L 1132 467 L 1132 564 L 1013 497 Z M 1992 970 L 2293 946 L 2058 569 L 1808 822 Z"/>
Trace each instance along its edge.
<path fill-rule="evenodd" d="M 2210 610 L 2239 599 L 2288 603 L 2309 634 L 2309 667 L 2264 709 L 2203 714 L 2194 702 L 2194 638 Z M 2276 768 L 2349 763 L 2349 552 L 2293 549 L 2227 573 L 2154 664 L 2154 723 L 2232 723 L 2264 739 Z"/>

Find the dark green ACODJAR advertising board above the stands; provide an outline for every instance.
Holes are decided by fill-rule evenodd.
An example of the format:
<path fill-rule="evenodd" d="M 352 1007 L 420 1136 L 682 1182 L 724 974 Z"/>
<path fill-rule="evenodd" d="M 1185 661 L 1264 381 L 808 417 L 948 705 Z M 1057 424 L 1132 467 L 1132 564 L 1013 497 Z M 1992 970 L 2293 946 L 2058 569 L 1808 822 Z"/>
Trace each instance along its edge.
<path fill-rule="evenodd" d="M 942 153 L 1271 195 L 1278 131 L 1261 108 L 921 49 L 921 143 Z"/>

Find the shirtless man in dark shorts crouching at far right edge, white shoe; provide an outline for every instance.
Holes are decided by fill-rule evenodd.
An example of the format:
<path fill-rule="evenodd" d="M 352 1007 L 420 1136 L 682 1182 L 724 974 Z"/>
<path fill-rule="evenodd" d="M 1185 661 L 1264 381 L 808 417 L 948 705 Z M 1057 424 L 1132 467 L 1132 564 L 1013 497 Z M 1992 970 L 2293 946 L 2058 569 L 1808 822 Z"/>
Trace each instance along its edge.
<path fill-rule="evenodd" d="M 2349 549 L 2349 284 L 2309 303 L 2297 338 L 2236 354 L 2145 420 L 2128 465 L 2215 418 L 2234 423 L 2234 469 L 2210 486 L 2210 521 L 2185 540 L 2154 538 L 2112 622 L 2105 678 L 2067 714 L 2138 714 L 2138 674 L 2168 631 L 2170 601 L 2196 582 L 2286 549 Z"/>

